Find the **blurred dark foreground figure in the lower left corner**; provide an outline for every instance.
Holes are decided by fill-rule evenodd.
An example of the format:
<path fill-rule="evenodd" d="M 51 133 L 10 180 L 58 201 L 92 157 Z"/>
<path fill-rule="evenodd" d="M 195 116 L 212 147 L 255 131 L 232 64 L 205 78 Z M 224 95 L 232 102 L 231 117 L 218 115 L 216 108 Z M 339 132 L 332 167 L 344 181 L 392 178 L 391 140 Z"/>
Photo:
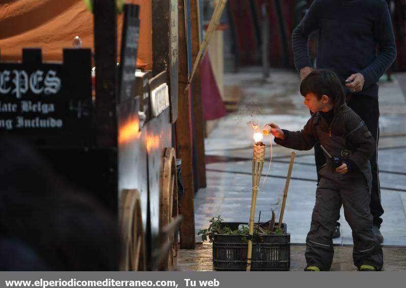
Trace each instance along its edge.
<path fill-rule="evenodd" d="M 0 137 L 0 167 L 0 270 L 119 269 L 111 215 L 17 140 Z"/>

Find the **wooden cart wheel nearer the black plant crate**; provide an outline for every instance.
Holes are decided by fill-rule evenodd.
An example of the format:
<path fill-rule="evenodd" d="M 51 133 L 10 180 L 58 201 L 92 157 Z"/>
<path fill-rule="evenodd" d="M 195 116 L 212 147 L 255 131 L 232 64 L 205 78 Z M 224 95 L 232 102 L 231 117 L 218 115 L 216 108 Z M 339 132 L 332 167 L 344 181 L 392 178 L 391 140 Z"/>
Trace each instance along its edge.
<path fill-rule="evenodd" d="M 162 189 L 161 189 L 161 202 L 160 202 L 160 231 L 166 225 L 170 224 L 178 215 L 178 189 L 177 189 L 177 174 L 176 174 L 176 161 L 175 150 L 173 148 L 166 148 L 163 157 L 163 171 Z M 168 254 L 167 261 L 163 263 L 162 269 L 169 270 L 175 263 L 175 257 L 178 251 L 178 233 L 168 236 L 164 241 L 173 242 L 173 247 Z"/>

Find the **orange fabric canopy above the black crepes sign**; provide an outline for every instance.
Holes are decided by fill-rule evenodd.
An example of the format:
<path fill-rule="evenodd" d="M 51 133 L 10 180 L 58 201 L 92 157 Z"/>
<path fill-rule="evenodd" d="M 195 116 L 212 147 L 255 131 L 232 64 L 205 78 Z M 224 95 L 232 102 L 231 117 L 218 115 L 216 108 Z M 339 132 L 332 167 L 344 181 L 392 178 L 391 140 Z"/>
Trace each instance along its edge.
<path fill-rule="evenodd" d="M 126 0 L 140 5 L 140 39 L 137 66 L 152 69 L 151 0 Z M 120 52 L 122 15 L 117 21 Z M 75 36 L 83 48 L 93 42 L 93 15 L 83 0 L 0 0 L 0 57 L 20 60 L 22 48 L 42 48 L 44 60 L 62 60 L 62 49 L 73 47 Z"/>

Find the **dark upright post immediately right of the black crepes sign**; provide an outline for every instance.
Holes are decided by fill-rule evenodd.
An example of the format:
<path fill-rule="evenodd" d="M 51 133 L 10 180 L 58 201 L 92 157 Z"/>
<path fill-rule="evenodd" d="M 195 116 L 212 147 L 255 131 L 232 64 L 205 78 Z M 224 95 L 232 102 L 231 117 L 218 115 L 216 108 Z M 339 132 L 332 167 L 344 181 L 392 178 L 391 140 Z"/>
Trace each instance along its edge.
<path fill-rule="evenodd" d="M 117 147 L 117 14 L 114 0 L 94 2 L 97 146 Z"/>

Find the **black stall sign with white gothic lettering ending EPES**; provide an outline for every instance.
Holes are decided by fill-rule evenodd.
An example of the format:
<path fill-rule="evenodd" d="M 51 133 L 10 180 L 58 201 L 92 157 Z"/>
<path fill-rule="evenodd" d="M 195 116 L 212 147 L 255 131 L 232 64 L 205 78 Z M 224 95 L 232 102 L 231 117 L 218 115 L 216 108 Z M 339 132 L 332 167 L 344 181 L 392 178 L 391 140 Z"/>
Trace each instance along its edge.
<path fill-rule="evenodd" d="M 84 54 L 89 54 L 88 66 L 78 63 Z M 0 62 L 0 134 L 36 145 L 86 141 L 92 105 L 90 51 L 64 53 L 65 61 L 75 56 L 79 59 L 70 64 Z"/>

